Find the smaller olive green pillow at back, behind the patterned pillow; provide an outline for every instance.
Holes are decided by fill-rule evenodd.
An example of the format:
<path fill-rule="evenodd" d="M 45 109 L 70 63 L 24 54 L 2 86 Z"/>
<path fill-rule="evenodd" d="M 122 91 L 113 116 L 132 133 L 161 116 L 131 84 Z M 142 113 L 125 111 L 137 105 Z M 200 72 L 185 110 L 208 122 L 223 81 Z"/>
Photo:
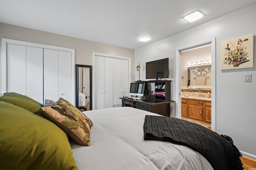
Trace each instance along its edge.
<path fill-rule="evenodd" d="M 14 104 L 28 111 L 31 111 L 37 115 L 43 116 L 42 109 L 41 109 L 43 105 L 37 102 L 36 100 L 29 98 L 28 96 L 24 96 L 22 94 L 18 94 L 14 92 L 9 92 L 9 93 L 4 93 L 4 96 L 0 97 L 0 101 Z"/>

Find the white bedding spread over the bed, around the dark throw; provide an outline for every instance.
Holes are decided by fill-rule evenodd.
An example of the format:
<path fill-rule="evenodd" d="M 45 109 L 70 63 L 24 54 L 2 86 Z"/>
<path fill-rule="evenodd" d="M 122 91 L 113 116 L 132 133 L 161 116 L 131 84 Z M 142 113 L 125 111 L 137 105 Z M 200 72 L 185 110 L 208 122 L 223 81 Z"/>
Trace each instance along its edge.
<path fill-rule="evenodd" d="M 132 107 L 84 112 L 94 123 L 91 146 L 71 142 L 79 170 L 213 170 L 198 152 L 162 141 L 144 141 L 145 115 Z"/>

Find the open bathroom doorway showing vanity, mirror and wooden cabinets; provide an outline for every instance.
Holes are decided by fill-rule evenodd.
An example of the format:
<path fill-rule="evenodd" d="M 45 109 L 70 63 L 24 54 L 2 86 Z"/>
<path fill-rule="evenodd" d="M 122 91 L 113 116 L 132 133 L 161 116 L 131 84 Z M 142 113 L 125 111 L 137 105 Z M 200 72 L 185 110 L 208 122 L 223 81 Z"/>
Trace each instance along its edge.
<path fill-rule="evenodd" d="M 180 51 L 181 119 L 211 125 L 211 44 Z"/>

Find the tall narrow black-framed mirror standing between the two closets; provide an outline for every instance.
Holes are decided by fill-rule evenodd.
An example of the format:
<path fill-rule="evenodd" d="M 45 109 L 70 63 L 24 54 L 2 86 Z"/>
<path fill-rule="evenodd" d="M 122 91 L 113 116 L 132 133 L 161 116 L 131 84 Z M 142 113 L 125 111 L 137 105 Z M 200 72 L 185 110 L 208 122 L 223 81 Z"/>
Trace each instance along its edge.
<path fill-rule="evenodd" d="M 76 107 L 92 110 L 92 66 L 76 64 Z"/>

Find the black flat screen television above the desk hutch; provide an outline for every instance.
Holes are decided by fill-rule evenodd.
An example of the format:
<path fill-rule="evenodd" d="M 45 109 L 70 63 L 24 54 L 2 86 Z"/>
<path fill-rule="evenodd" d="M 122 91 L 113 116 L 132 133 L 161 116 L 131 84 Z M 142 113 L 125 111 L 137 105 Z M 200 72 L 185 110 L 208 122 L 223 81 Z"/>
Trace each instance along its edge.
<path fill-rule="evenodd" d="M 146 63 L 146 79 L 169 78 L 169 58 Z"/>

